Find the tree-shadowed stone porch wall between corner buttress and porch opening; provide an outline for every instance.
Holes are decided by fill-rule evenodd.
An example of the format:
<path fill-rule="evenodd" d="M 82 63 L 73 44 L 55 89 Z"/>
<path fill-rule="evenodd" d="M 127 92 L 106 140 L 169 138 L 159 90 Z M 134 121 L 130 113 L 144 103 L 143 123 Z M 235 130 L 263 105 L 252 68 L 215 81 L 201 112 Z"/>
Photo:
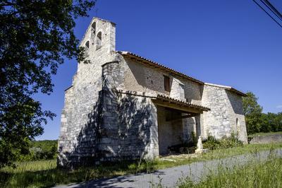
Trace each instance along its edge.
<path fill-rule="evenodd" d="M 121 94 L 118 135 L 122 158 L 155 158 L 159 155 L 157 107 L 150 98 Z"/>

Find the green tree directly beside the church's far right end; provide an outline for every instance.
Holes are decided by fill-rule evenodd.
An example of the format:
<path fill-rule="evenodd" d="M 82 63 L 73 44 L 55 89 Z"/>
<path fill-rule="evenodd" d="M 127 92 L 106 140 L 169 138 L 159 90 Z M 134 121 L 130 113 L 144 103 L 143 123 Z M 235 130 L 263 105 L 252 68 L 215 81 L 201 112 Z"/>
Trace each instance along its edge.
<path fill-rule="evenodd" d="M 243 98 L 243 111 L 246 119 L 247 134 L 259 132 L 262 129 L 262 107 L 257 103 L 254 93 L 247 92 Z"/>

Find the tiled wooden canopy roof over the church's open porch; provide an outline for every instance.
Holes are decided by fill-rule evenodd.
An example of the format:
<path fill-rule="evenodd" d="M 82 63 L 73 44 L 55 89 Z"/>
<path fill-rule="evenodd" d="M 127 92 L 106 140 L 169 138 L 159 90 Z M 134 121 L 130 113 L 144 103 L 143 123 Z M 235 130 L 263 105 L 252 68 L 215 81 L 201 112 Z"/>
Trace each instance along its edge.
<path fill-rule="evenodd" d="M 197 114 L 202 114 L 202 112 L 210 110 L 208 107 L 184 102 L 166 95 L 157 95 L 157 98 L 152 99 L 152 101 L 157 105 L 188 113 L 190 114 L 190 117 L 194 117 Z"/>

